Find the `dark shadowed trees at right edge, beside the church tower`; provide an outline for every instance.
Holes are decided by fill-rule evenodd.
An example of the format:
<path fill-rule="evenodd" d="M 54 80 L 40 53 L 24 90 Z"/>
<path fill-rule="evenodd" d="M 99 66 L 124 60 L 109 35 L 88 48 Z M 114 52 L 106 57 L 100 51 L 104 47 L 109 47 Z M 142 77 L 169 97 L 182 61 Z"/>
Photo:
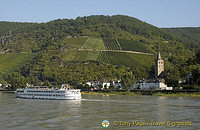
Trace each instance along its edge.
<path fill-rule="evenodd" d="M 185 81 L 183 80 L 185 79 Z M 169 86 L 178 87 L 179 81 L 182 81 L 182 86 L 187 88 L 200 87 L 200 50 L 198 50 L 194 57 L 188 59 L 180 65 L 174 65 L 168 69 L 166 83 Z"/>

